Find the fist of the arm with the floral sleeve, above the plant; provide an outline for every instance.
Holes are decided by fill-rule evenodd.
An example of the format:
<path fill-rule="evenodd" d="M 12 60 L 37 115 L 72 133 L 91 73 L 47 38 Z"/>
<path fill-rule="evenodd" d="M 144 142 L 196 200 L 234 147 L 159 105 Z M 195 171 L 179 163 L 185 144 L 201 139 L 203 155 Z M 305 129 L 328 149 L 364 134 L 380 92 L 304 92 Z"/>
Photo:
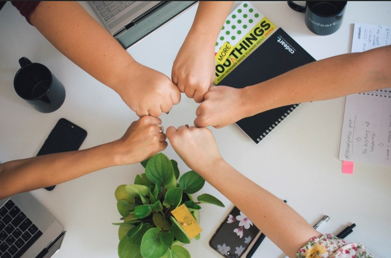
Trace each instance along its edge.
<path fill-rule="evenodd" d="M 223 160 L 212 131 L 206 127 L 170 126 L 167 138 L 186 165 L 200 174 Z"/>

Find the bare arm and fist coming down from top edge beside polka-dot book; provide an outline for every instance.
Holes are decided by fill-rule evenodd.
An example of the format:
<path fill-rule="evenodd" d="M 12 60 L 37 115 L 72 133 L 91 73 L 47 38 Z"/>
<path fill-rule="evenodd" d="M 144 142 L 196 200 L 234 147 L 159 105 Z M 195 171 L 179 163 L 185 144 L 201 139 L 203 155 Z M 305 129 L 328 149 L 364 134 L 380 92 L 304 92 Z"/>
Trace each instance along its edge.
<path fill-rule="evenodd" d="M 234 1 L 200 1 L 172 67 L 172 81 L 200 103 L 215 78 L 215 44 Z"/>

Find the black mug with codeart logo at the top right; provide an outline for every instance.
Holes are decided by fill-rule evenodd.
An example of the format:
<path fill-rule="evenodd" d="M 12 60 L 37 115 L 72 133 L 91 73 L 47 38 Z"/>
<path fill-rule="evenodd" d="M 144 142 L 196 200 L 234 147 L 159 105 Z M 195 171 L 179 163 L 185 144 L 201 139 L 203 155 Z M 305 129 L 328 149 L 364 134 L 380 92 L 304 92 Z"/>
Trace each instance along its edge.
<path fill-rule="evenodd" d="M 343 1 L 307 1 L 300 6 L 288 1 L 290 8 L 305 13 L 307 28 L 317 35 L 330 35 L 342 25 L 342 18 L 348 2 Z"/>

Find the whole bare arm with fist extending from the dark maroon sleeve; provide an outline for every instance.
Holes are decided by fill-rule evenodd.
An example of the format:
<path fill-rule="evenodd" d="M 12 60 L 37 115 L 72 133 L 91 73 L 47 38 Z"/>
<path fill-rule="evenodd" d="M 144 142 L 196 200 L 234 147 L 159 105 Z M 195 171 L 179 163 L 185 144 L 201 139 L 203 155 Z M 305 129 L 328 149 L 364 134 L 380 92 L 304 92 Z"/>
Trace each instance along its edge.
<path fill-rule="evenodd" d="M 77 2 L 41 2 L 30 22 L 72 62 L 116 91 L 137 115 L 159 116 L 180 102 L 181 93 L 169 77 L 137 63 Z"/>

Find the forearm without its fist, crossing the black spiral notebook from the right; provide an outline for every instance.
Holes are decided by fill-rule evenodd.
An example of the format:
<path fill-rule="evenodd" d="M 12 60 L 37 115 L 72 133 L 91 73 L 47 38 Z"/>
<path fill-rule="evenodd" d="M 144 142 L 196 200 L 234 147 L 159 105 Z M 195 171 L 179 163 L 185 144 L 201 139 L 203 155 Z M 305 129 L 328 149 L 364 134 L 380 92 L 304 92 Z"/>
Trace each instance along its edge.
<path fill-rule="evenodd" d="M 338 55 L 243 89 L 245 116 L 276 107 L 330 100 L 391 87 L 391 46 Z M 260 101 L 262 100 L 262 101 Z"/>

